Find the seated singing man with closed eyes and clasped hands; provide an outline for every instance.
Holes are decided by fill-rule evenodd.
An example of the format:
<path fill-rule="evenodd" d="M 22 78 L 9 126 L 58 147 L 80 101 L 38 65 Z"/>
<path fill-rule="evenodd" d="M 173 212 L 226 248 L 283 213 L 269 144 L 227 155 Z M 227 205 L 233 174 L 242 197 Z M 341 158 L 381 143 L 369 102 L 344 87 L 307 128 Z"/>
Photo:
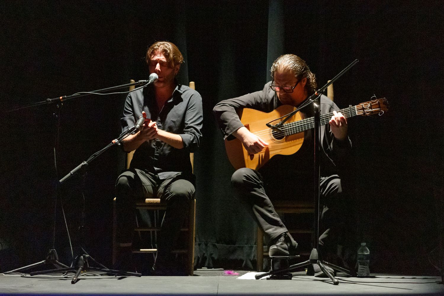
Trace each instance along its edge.
<path fill-rule="evenodd" d="M 183 57 L 173 43 L 152 44 L 146 62 L 150 74 L 156 73 L 159 79 L 128 94 L 121 118 L 122 133 L 140 116 L 147 119 L 139 131 L 123 140 L 123 149 L 135 153 L 130 169 L 119 175 L 115 185 L 119 243 L 115 268 L 135 270 L 131 257 L 135 203 L 154 197 L 165 201 L 167 207 L 152 274 L 174 275 L 171 248 L 194 199 L 190 152 L 198 148 L 202 138 L 202 98 L 178 83 L 176 75 Z"/>

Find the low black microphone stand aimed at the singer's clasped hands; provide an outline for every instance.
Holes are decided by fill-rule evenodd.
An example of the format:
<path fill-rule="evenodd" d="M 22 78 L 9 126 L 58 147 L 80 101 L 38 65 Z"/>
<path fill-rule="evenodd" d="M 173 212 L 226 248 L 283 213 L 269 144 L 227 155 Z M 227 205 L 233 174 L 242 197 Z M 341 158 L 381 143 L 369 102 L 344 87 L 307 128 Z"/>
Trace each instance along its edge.
<path fill-rule="evenodd" d="M 71 170 L 71 172 L 69 172 L 65 177 L 61 178 L 59 180 L 59 185 L 63 185 L 65 182 L 67 182 L 71 177 L 73 177 L 76 174 L 81 174 L 82 184 L 84 185 L 84 180 L 86 178 L 86 170 L 87 170 L 87 167 L 88 167 L 89 163 L 92 162 L 95 158 L 97 158 L 100 154 L 102 154 L 103 152 L 105 152 L 106 150 L 111 148 L 112 146 L 119 145 L 120 142 L 124 138 L 128 137 L 132 132 L 134 132 L 137 129 L 138 129 L 138 126 L 130 127 L 127 130 L 127 132 L 122 134 L 122 135 L 120 135 L 119 138 L 116 138 L 116 139 L 112 140 L 111 143 L 109 143 L 103 149 L 99 150 L 95 154 L 92 154 L 86 161 L 83 161 L 82 163 L 80 163 L 73 170 Z M 83 190 L 82 190 L 82 194 L 83 194 Z M 84 218 L 84 215 L 85 215 L 85 213 L 84 213 L 84 207 L 83 207 L 82 208 L 82 213 L 81 213 L 81 217 L 82 217 L 81 218 L 81 223 L 80 223 L 81 225 L 79 227 L 80 231 L 83 230 L 83 223 L 84 223 L 83 218 Z M 80 238 L 82 239 L 83 237 L 84 237 L 83 233 L 81 233 L 80 234 Z M 84 249 L 82 247 L 80 249 L 84 252 Z M 123 275 L 123 276 L 142 276 L 142 274 L 138 273 L 138 272 L 127 272 L 127 271 L 120 271 L 120 270 L 115 270 L 115 269 L 108 269 L 105 266 L 103 266 L 102 264 L 96 262 L 94 259 L 93 260 L 96 263 L 98 263 L 99 265 L 101 265 L 103 268 L 91 267 L 91 266 L 89 266 L 88 258 L 92 259 L 92 257 L 87 255 L 87 254 L 78 255 L 75 258 L 75 266 L 71 266 L 71 267 L 67 267 L 66 266 L 66 267 L 63 267 L 63 268 L 50 269 L 50 270 L 45 270 L 45 271 L 30 272 L 29 274 L 31 276 L 35 276 L 35 275 L 40 275 L 40 274 L 52 273 L 52 272 L 75 272 L 75 275 L 74 275 L 74 277 L 71 280 L 71 284 L 75 284 L 77 282 L 78 277 L 80 275 L 80 272 L 82 272 L 83 270 L 101 271 L 101 272 L 104 272 L 104 273 L 111 273 L 111 274 Z"/>

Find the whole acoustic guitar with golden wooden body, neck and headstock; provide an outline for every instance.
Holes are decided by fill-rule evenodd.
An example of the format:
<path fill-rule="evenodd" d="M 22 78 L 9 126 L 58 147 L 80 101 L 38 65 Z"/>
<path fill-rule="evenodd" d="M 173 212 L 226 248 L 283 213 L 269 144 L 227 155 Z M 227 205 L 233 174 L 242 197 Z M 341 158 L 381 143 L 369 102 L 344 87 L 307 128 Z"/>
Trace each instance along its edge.
<path fill-rule="evenodd" d="M 272 130 L 266 126 L 268 122 L 276 126 L 277 123 L 285 118 L 286 114 L 294 110 L 295 107 L 290 105 L 279 106 L 269 113 L 250 108 L 240 109 L 238 115 L 244 126 L 250 130 L 250 132 L 267 142 L 268 146 L 265 146 L 261 152 L 250 155 L 239 139 L 225 140 L 226 153 L 234 168 L 238 170 L 246 167 L 258 170 L 275 155 L 290 155 L 296 153 L 304 142 L 304 131 L 314 128 L 314 117 L 302 118 L 301 113 L 297 112 L 281 126 L 282 132 Z M 357 115 L 382 115 L 388 110 L 389 103 L 387 99 L 384 98 L 361 103 L 356 106 L 349 106 L 337 112 L 341 112 L 345 118 L 349 118 Z M 321 126 L 329 123 L 332 116 L 333 112 L 321 114 Z M 274 120 L 275 118 L 279 119 Z"/>

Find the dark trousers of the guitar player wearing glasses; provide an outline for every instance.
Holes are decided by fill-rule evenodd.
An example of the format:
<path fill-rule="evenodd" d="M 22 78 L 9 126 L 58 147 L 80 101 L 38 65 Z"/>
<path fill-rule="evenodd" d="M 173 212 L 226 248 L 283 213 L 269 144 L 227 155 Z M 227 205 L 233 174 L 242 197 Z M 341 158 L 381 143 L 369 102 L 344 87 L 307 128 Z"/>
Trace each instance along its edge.
<path fill-rule="evenodd" d="M 281 233 L 288 232 L 281 218 L 274 210 L 270 200 L 281 199 L 305 199 L 313 200 L 313 181 L 310 178 L 301 180 L 294 178 L 292 182 L 286 180 L 282 182 L 279 178 L 264 178 L 257 170 L 242 168 L 236 170 L 231 177 L 231 183 L 234 186 L 236 195 L 243 201 L 250 211 L 258 226 L 274 240 Z M 337 233 L 340 228 L 337 213 L 340 210 L 341 202 L 341 179 L 338 175 L 321 178 L 321 203 L 323 205 L 320 211 L 319 229 L 322 233 L 319 237 L 319 245 L 328 247 L 334 244 L 337 239 Z M 268 193 L 268 194 L 267 194 Z M 326 250 L 326 248 L 323 248 Z"/>

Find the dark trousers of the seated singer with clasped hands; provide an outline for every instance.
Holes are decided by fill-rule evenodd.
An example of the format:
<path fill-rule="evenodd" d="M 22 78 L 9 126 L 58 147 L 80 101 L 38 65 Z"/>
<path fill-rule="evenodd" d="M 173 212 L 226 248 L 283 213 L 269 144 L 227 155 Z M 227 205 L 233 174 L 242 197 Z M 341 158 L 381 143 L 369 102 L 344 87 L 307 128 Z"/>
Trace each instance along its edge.
<path fill-rule="evenodd" d="M 145 198 L 160 198 L 166 202 L 166 211 L 157 239 L 156 265 L 169 257 L 175 245 L 180 228 L 186 217 L 189 202 L 194 199 L 194 185 L 191 178 L 181 174 L 160 180 L 156 174 L 143 170 L 127 170 L 119 175 L 116 182 L 117 241 L 132 243 L 135 227 L 135 204 Z"/>

